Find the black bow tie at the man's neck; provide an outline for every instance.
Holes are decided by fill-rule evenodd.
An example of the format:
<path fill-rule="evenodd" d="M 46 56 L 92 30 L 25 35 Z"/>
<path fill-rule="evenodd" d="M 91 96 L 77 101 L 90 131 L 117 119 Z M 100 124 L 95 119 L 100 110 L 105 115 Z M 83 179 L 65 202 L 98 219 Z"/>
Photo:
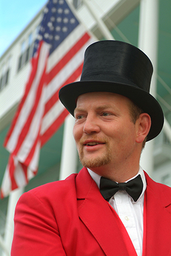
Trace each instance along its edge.
<path fill-rule="evenodd" d="M 143 191 L 143 181 L 141 180 L 140 174 L 135 179 L 124 183 L 116 183 L 115 181 L 101 177 L 100 191 L 107 201 L 119 190 L 125 190 L 136 202 Z"/>

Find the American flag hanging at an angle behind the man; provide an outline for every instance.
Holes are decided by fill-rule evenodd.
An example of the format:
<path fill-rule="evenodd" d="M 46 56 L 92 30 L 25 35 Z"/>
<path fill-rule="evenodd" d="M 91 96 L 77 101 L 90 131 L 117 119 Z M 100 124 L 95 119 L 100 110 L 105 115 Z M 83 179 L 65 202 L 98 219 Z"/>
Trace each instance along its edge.
<path fill-rule="evenodd" d="M 40 148 L 68 115 L 59 101 L 59 90 L 80 79 L 85 49 L 94 41 L 66 0 L 48 1 L 26 89 L 5 139 L 10 157 L 1 197 L 23 187 L 37 174 Z"/>

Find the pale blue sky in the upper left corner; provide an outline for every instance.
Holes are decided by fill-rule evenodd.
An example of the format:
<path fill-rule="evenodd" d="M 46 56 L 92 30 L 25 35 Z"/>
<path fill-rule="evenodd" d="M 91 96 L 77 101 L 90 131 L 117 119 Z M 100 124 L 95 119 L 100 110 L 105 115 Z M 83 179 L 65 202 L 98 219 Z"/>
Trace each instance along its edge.
<path fill-rule="evenodd" d="M 0 0 L 0 57 L 47 0 Z"/>

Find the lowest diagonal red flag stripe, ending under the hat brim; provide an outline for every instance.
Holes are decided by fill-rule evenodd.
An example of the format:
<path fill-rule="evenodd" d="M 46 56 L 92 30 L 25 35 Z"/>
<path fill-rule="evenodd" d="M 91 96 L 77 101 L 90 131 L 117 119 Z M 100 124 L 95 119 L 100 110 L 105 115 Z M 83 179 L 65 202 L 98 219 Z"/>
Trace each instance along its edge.
<path fill-rule="evenodd" d="M 57 129 L 60 128 L 68 114 L 68 110 L 64 109 L 55 122 L 53 122 L 52 125 L 45 131 L 41 137 L 41 147 L 43 147 L 44 144 L 53 136 L 53 134 L 56 133 Z"/>

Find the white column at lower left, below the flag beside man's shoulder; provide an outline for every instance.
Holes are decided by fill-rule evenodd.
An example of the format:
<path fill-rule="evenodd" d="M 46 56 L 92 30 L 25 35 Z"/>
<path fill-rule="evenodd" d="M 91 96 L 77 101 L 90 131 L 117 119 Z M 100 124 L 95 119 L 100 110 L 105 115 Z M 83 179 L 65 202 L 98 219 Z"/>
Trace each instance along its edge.
<path fill-rule="evenodd" d="M 14 212 L 15 206 L 19 197 L 23 194 L 23 188 L 15 189 L 10 193 L 9 203 L 7 208 L 6 224 L 5 224 L 5 236 L 4 236 L 4 246 L 11 251 L 12 238 L 14 233 Z M 3 256 L 8 255 L 3 253 Z"/>

